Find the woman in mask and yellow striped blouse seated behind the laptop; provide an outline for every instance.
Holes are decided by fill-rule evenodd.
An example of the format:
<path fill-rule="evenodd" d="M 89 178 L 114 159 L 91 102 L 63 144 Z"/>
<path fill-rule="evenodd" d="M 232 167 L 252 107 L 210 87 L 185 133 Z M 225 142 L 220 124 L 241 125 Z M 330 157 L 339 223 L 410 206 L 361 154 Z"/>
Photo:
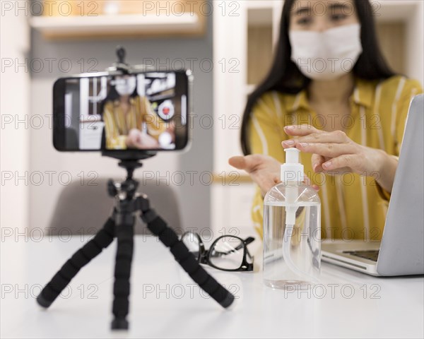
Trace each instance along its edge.
<path fill-rule="evenodd" d="M 319 188 L 322 237 L 381 238 L 408 106 L 423 89 L 389 69 L 372 14 L 367 0 L 285 1 L 271 71 L 245 109 L 246 156 L 230 159 L 259 186 L 259 234 L 283 148 L 296 147 Z"/>

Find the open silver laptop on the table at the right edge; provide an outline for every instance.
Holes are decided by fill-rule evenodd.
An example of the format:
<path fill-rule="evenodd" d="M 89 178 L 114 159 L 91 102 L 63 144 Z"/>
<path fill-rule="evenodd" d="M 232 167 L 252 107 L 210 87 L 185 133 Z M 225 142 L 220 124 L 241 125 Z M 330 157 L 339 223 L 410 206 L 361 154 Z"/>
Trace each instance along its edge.
<path fill-rule="evenodd" d="M 322 260 L 375 276 L 424 274 L 424 95 L 411 101 L 381 242 L 324 241 Z"/>

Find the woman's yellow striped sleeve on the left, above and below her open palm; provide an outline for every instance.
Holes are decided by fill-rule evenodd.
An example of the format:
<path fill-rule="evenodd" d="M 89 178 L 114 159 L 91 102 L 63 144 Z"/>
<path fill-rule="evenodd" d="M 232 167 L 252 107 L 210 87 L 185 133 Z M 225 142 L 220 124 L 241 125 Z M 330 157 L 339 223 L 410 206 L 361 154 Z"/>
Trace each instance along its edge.
<path fill-rule="evenodd" d="M 249 146 L 252 154 L 270 155 L 279 162 L 284 162 L 281 141 L 285 140 L 287 136 L 283 131 L 281 107 L 276 92 L 265 93 L 254 105 L 249 121 Z M 252 206 L 252 220 L 261 237 L 263 213 L 264 198 L 258 187 Z"/>

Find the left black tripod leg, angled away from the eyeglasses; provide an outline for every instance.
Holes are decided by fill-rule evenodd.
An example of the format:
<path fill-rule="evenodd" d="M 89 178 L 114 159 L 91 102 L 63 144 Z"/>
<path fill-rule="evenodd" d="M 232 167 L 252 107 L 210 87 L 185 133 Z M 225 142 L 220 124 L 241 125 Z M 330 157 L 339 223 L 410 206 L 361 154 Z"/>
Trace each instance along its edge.
<path fill-rule="evenodd" d="M 113 238 L 114 220 L 113 218 L 109 218 L 103 228 L 95 234 L 95 237 L 81 247 L 81 249 L 78 249 L 42 289 L 40 295 L 37 297 L 38 304 L 45 308 L 49 307 L 72 278 L 75 277 L 76 273 L 83 266 L 86 266 L 91 259 L 100 254 L 103 249 L 109 246 Z"/>

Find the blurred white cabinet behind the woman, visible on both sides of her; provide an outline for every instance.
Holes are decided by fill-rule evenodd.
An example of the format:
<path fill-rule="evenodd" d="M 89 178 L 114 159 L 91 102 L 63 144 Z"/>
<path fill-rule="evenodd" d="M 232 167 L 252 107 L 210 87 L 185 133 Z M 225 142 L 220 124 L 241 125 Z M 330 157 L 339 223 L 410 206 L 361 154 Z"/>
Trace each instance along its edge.
<path fill-rule="evenodd" d="M 216 1 L 213 11 L 213 95 L 215 174 L 230 175 L 232 155 L 242 155 L 240 126 L 247 95 L 271 66 L 273 47 L 278 40 L 283 1 Z M 423 83 L 422 0 L 371 1 L 382 52 L 395 71 Z M 254 184 L 240 172 L 239 186 L 211 189 L 211 225 L 245 227 L 253 234 L 250 220 Z M 227 181 L 228 182 L 228 181 Z"/>

